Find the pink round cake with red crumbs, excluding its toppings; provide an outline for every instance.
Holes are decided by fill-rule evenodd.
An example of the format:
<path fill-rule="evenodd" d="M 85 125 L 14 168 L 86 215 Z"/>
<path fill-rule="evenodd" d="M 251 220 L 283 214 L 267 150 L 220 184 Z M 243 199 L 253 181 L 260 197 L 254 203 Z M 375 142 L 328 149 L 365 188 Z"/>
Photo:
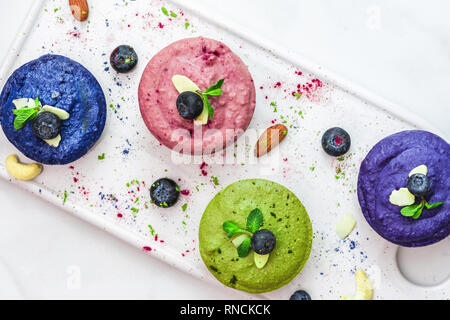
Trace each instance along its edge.
<path fill-rule="evenodd" d="M 204 91 L 224 79 L 223 93 L 210 97 L 214 117 L 198 126 L 177 111 L 174 75 L 192 80 Z M 255 86 L 244 62 L 225 44 L 202 37 L 172 43 L 148 63 L 139 85 L 139 105 L 150 132 L 160 143 L 186 154 L 223 149 L 249 126 L 255 109 Z"/>

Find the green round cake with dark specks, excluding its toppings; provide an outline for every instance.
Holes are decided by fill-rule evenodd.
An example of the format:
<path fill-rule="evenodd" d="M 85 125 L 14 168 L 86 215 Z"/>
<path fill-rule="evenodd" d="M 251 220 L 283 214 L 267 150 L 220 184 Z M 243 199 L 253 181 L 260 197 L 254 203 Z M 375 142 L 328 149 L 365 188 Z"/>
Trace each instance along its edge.
<path fill-rule="evenodd" d="M 245 228 L 249 213 L 258 208 L 262 228 L 276 238 L 267 263 L 258 268 L 254 252 L 241 258 L 224 222 Z M 224 285 L 250 293 L 278 289 L 305 266 L 312 245 L 312 226 L 300 200 L 285 187 L 268 180 L 242 180 L 220 191 L 206 208 L 199 230 L 200 254 L 209 271 Z"/>

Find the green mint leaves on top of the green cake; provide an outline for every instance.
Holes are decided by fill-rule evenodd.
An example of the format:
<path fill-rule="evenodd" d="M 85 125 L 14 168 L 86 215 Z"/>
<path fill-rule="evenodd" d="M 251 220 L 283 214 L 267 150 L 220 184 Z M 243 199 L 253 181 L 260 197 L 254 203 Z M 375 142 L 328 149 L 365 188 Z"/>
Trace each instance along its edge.
<path fill-rule="evenodd" d="M 239 257 L 244 258 L 248 256 L 251 249 L 251 237 L 253 236 L 253 233 L 260 230 L 261 227 L 264 225 L 264 216 L 258 208 L 253 209 L 248 217 L 247 217 L 247 224 L 246 229 L 239 228 L 234 222 L 226 221 L 223 224 L 223 230 L 227 233 L 227 237 L 231 238 L 235 234 L 244 233 L 248 234 L 249 238 L 245 239 L 241 245 L 237 248 L 237 252 Z"/>

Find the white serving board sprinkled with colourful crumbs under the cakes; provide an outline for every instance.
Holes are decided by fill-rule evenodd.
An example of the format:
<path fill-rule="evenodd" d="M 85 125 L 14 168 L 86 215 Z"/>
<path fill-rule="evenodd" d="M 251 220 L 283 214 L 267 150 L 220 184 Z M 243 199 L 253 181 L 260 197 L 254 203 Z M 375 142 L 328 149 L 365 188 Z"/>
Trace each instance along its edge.
<path fill-rule="evenodd" d="M 108 107 L 102 138 L 79 161 L 71 166 L 46 166 L 41 176 L 27 183 L 11 180 L 2 164 L 2 178 L 141 250 L 151 248 L 147 251 L 150 256 L 217 284 L 198 252 L 197 233 L 203 210 L 219 190 L 237 180 L 270 179 L 291 189 L 307 208 L 314 229 L 313 248 L 305 269 L 289 285 L 265 295 L 246 295 L 248 298 L 287 299 L 293 291 L 303 288 L 315 299 L 336 299 L 352 294 L 354 272 L 358 269 L 369 274 L 378 299 L 447 298 L 448 281 L 435 287 L 421 287 L 403 278 L 396 262 L 398 247 L 368 226 L 355 192 L 360 162 L 377 141 L 394 132 L 418 128 L 415 123 L 435 130 L 424 127 L 423 121 L 419 122 L 404 109 L 293 53 L 275 50 L 275 46 L 257 36 L 235 30 L 226 20 L 220 21 L 222 26 L 213 24 L 198 8 L 180 9 L 177 2 L 181 3 L 91 1 L 89 22 L 80 23 L 73 19 L 67 1 L 36 1 L 2 67 L 0 84 L 3 86 L 14 69 L 31 59 L 46 53 L 62 54 L 80 62 L 97 77 L 107 105 L 112 108 Z M 166 17 L 161 12 L 162 6 L 178 16 Z M 214 159 L 189 157 L 190 163 L 176 164 L 170 150 L 146 129 L 137 99 L 146 63 L 166 45 L 193 36 L 225 42 L 248 65 L 257 88 L 251 129 L 261 130 L 272 122 L 283 121 L 291 127 L 286 141 L 273 152 L 273 162 L 255 164 L 240 159 L 243 152 L 239 150 L 253 148 L 257 139 L 253 136 L 247 141 L 238 140 L 234 164 L 220 163 L 223 152 Z M 118 75 L 111 68 L 105 70 L 110 67 L 111 51 L 120 44 L 132 45 L 139 55 L 138 67 L 128 75 Z M 323 83 L 317 90 L 315 79 Z M 312 94 L 304 94 L 297 100 L 291 92 L 298 84 L 311 84 Z M 276 103 L 277 112 L 271 102 Z M 344 161 L 321 151 L 321 133 L 331 126 L 344 127 L 352 136 L 352 149 Z M 229 148 L 227 152 L 234 151 Z M 0 158 L 5 159 L 11 153 L 18 151 L 2 133 Z M 103 153 L 105 159 L 98 160 Z M 207 176 L 201 174 L 203 160 L 209 164 Z M 338 167 L 344 174 L 336 174 Z M 170 209 L 149 203 L 148 186 L 165 176 L 178 180 L 181 189 L 189 190 L 189 195 L 181 196 Z M 213 183 L 212 177 L 218 178 L 219 185 Z M 134 180 L 139 185 L 130 183 Z M 185 212 L 184 204 L 187 204 Z M 133 212 L 132 208 L 139 212 Z M 339 240 L 335 226 L 347 212 L 354 215 L 357 227 L 348 239 Z M 151 234 L 149 225 L 157 238 Z"/>

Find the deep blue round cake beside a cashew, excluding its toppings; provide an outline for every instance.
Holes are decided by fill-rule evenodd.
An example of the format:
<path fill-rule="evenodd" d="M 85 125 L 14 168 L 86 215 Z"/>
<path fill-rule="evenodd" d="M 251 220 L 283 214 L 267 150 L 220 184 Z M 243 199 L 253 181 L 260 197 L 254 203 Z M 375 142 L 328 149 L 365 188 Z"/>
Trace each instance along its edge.
<path fill-rule="evenodd" d="M 29 121 L 14 128 L 16 99 L 38 98 L 42 105 L 62 109 L 70 118 L 62 121 L 57 147 L 38 138 Z M 49 165 L 73 162 L 100 138 L 106 121 L 106 101 L 100 84 L 81 64 L 59 55 L 45 55 L 17 69 L 0 96 L 0 121 L 8 140 L 25 156 Z"/>

